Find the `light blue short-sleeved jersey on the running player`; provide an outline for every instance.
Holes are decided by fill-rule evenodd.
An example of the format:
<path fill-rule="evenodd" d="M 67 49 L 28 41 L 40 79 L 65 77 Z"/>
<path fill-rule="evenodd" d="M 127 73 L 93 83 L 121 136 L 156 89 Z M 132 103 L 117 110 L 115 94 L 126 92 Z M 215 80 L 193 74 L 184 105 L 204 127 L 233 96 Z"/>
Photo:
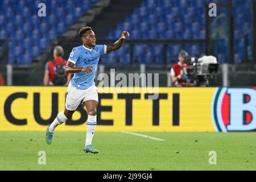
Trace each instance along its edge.
<path fill-rule="evenodd" d="M 90 86 L 95 85 L 94 77 L 97 71 L 98 60 L 102 53 L 106 53 L 105 45 L 96 45 L 92 49 L 88 49 L 84 46 L 73 48 L 69 55 L 68 61 L 75 64 L 77 68 L 93 67 L 93 71 L 90 73 L 77 72 L 71 80 L 71 84 L 77 89 L 85 90 Z"/>

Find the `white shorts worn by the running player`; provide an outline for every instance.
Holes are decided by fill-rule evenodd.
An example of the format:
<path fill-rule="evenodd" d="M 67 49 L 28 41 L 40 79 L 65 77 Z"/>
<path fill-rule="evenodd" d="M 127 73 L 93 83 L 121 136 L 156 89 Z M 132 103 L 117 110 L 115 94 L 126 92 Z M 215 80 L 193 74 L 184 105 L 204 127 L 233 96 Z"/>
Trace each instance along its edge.
<path fill-rule="evenodd" d="M 95 85 L 90 86 L 88 89 L 80 90 L 71 84 L 68 84 L 67 98 L 65 107 L 67 110 L 76 110 L 77 107 L 88 100 L 94 100 L 98 102 L 97 87 Z"/>

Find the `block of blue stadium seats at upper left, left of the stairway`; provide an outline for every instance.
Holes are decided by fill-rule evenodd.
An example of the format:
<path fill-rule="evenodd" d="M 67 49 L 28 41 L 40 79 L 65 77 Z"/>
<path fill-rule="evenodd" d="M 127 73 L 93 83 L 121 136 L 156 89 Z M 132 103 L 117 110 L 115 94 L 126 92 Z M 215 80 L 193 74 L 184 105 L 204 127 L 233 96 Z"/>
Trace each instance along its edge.
<path fill-rule="evenodd" d="M 0 39 L 9 39 L 9 63 L 31 64 L 98 0 L 46 0 L 47 16 L 38 16 L 39 0 L 0 1 Z M 7 7 L 7 8 L 4 8 Z"/>

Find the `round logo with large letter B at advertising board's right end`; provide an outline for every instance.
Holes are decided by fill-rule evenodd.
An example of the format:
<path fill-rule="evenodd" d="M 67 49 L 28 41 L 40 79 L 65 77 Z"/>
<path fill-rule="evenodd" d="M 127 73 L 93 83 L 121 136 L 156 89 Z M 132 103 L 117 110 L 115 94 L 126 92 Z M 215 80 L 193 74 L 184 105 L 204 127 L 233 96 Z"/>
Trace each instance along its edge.
<path fill-rule="evenodd" d="M 256 88 L 217 88 L 212 119 L 216 131 L 256 131 Z"/>

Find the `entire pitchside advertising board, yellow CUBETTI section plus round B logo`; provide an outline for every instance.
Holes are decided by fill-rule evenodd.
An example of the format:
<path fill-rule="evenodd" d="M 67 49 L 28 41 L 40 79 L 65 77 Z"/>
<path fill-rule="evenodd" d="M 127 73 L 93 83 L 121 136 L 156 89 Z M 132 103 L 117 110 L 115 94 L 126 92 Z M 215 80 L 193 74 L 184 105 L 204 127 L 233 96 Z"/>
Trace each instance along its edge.
<path fill-rule="evenodd" d="M 254 131 L 256 88 L 97 88 L 97 131 Z M 1 86 L 0 131 L 45 131 L 64 109 L 65 87 Z M 58 131 L 86 131 L 79 106 Z"/>

